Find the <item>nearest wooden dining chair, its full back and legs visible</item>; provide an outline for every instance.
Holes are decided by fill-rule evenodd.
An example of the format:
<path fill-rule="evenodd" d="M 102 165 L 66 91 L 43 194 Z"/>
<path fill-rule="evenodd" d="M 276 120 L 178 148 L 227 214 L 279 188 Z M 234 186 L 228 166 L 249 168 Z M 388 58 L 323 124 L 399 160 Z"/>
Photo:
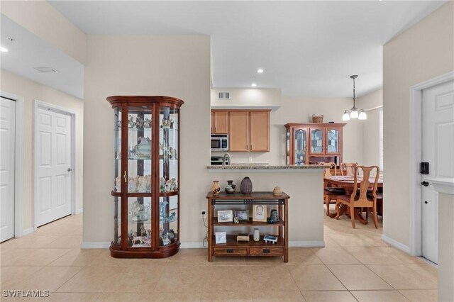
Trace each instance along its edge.
<path fill-rule="evenodd" d="M 371 174 L 373 174 L 375 170 L 375 179 L 373 183 L 370 182 L 372 178 Z M 358 177 L 360 176 L 360 172 L 362 172 L 362 180 L 359 184 L 358 190 Z M 355 208 L 367 208 L 367 211 L 370 211 L 372 208 L 372 216 L 374 218 L 374 225 L 375 228 L 377 227 L 377 183 L 378 178 L 380 177 L 380 168 L 377 166 L 365 167 L 365 166 L 358 166 L 355 167 L 354 173 L 354 182 L 353 182 L 353 192 L 351 195 L 340 195 L 336 197 L 336 219 L 339 219 L 340 216 L 340 207 L 341 204 L 344 206 L 350 207 L 350 218 L 352 220 L 352 226 L 355 228 Z M 373 176 L 372 176 L 373 177 Z M 372 192 L 371 197 L 367 197 L 367 190 L 371 189 Z M 370 193 L 369 192 L 369 193 Z"/>

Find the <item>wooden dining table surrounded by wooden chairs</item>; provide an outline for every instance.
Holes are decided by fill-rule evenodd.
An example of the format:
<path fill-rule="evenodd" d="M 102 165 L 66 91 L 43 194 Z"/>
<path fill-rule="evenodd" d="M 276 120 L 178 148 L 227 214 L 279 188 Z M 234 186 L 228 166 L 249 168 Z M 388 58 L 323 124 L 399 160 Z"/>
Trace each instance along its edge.
<path fill-rule="evenodd" d="M 353 193 L 353 188 L 355 186 L 355 177 L 353 175 L 331 175 L 331 176 L 326 176 L 323 177 L 323 180 L 325 181 L 327 186 L 333 186 L 333 187 L 338 187 L 338 188 L 343 188 L 345 190 L 345 195 L 351 195 Z M 362 181 L 362 177 L 358 177 L 356 179 L 358 182 L 358 188 L 360 187 L 360 183 Z M 370 182 L 370 189 L 372 189 L 372 186 L 375 181 L 375 176 L 369 178 Z M 383 177 L 380 175 L 377 181 L 377 188 L 383 188 Z M 350 213 L 350 208 L 348 206 L 345 206 L 343 204 L 340 205 L 339 207 L 339 212 L 338 213 L 330 213 L 329 217 L 331 218 L 336 218 L 338 216 L 341 216 L 345 213 L 345 215 L 348 215 Z M 376 215 L 376 214 L 375 214 Z M 362 224 L 367 224 L 367 220 L 362 217 L 360 211 L 355 211 L 355 218 L 357 218 L 360 223 Z"/>

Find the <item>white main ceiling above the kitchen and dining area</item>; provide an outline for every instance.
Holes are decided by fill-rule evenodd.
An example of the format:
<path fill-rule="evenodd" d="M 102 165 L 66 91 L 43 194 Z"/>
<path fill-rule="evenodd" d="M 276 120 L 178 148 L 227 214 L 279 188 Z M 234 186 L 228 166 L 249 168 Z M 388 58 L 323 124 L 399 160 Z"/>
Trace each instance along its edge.
<path fill-rule="evenodd" d="M 287 96 L 349 97 L 351 74 L 359 74 L 358 96 L 382 87 L 382 45 L 444 2 L 50 1 L 50 4 L 87 34 L 210 35 L 214 87 L 250 87 L 255 82 L 258 87 L 282 88 L 282 94 Z M 3 21 L 1 30 L 3 43 Z M 4 55 L 1 60 L 3 65 Z M 265 72 L 258 74 L 258 68 Z"/>

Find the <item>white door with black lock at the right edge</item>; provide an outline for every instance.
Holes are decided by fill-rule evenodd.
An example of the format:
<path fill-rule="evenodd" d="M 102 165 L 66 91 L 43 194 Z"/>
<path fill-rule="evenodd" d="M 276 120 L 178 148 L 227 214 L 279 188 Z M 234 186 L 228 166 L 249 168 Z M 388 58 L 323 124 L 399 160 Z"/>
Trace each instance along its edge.
<path fill-rule="evenodd" d="M 423 90 L 422 161 L 425 179 L 454 177 L 454 82 Z M 443 227 L 443 226 L 441 226 Z M 422 255 L 438 263 L 438 192 L 422 186 Z"/>

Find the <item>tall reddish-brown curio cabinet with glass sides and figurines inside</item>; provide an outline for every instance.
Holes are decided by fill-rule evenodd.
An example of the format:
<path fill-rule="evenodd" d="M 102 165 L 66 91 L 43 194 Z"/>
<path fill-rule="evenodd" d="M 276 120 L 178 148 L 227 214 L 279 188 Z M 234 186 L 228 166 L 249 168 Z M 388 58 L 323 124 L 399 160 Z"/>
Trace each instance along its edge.
<path fill-rule="evenodd" d="M 168 96 L 109 96 L 114 108 L 111 256 L 163 258 L 179 250 L 179 108 Z"/>

